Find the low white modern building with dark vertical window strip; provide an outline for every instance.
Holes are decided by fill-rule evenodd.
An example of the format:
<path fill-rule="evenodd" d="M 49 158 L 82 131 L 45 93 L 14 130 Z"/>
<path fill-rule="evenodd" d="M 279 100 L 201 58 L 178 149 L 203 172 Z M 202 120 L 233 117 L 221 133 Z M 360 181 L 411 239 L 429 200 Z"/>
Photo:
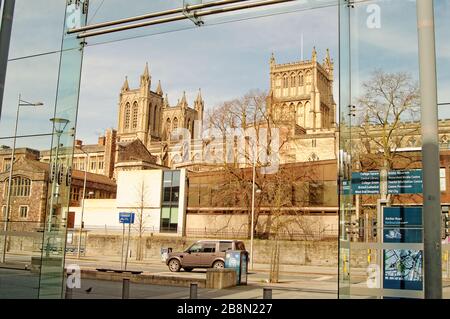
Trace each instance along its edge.
<path fill-rule="evenodd" d="M 117 175 L 116 199 L 88 199 L 84 205 L 86 231 L 121 232 L 120 212 L 135 214 L 133 234 L 184 236 L 186 229 L 186 170 L 133 170 Z M 74 228 L 81 224 L 82 207 L 70 207 Z"/>

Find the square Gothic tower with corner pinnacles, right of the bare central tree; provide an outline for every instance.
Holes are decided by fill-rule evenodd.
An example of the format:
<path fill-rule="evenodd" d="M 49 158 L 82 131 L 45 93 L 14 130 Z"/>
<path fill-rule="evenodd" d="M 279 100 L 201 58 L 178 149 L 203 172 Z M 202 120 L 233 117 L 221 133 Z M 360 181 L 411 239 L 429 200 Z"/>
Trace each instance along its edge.
<path fill-rule="evenodd" d="M 294 134 L 333 130 L 333 69 L 328 50 L 322 64 L 315 48 L 310 61 L 276 64 L 272 54 L 269 112 L 277 121 L 293 126 Z"/>

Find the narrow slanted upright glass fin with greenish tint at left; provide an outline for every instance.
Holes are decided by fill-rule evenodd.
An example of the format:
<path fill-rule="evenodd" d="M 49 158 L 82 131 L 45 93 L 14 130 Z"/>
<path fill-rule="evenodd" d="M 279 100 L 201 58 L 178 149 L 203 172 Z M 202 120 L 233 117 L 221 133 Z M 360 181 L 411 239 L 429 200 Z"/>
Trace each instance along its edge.
<path fill-rule="evenodd" d="M 65 30 L 86 24 L 87 6 L 84 3 L 85 1 L 68 2 Z M 75 35 L 65 34 L 63 38 L 50 156 L 50 167 L 56 174 L 49 189 L 39 298 L 61 298 L 64 291 L 63 270 L 70 202 L 68 174 L 72 166 L 83 42 L 83 39 L 77 39 Z"/>

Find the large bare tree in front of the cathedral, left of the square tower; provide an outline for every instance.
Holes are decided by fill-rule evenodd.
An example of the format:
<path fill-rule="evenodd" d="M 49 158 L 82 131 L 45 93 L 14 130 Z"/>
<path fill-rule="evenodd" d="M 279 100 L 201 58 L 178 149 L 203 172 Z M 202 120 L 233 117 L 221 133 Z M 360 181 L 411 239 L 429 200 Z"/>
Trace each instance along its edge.
<path fill-rule="evenodd" d="M 218 145 L 214 152 L 217 163 L 226 176 L 220 192 L 213 200 L 217 202 L 231 200 L 235 205 L 243 206 L 248 212 L 247 229 L 250 237 L 253 161 L 257 167 L 256 189 L 263 192 L 268 185 L 268 175 L 261 168 L 268 165 L 268 157 L 280 152 L 287 142 L 287 137 L 284 139 L 281 137 L 280 140 L 275 141 L 275 136 L 272 136 L 272 128 L 277 125 L 272 114 L 267 111 L 267 94 L 261 91 L 250 91 L 241 98 L 222 103 L 207 113 L 206 122 L 210 129 L 215 129 L 221 136 L 220 140 L 209 140 L 207 143 Z M 244 145 L 240 144 L 244 132 L 249 129 L 254 132 L 253 139 L 246 136 Z M 258 225 L 262 199 L 261 196 L 255 197 L 255 226 Z M 254 229 L 256 231 L 256 227 Z"/>

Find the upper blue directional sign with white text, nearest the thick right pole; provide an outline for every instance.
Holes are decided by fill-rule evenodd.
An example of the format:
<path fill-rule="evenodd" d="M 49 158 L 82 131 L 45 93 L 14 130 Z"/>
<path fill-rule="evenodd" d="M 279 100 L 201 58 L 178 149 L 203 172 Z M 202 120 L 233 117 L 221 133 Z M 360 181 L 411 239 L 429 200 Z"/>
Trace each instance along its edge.
<path fill-rule="evenodd" d="M 388 194 L 421 194 L 422 192 L 421 169 L 388 172 Z"/>

